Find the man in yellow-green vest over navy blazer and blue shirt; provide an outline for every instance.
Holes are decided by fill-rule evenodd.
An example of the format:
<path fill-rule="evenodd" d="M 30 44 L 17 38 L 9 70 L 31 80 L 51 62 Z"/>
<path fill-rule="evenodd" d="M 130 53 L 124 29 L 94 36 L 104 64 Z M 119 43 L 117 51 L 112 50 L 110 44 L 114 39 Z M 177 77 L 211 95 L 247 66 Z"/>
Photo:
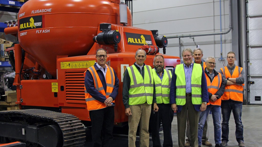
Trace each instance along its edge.
<path fill-rule="evenodd" d="M 205 111 L 208 102 L 208 88 L 203 67 L 193 63 L 193 51 L 182 51 L 184 64 L 173 69 L 170 86 L 170 104 L 177 111 L 178 146 L 185 146 L 187 114 L 190 125 L 191 146 L 198 146 L 199 111 Z M 188 112 L 188 113 L 187 113 Z"/>

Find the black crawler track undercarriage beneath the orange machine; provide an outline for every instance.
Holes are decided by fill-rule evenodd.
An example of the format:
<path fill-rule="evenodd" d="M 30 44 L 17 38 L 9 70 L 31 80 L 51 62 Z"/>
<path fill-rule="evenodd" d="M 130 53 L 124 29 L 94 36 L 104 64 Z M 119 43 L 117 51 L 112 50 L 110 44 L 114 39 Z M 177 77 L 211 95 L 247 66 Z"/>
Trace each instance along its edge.
<path fill-rule="evenodd" d="M 0 111 L 1 143 L 27 146 L 84 146 L 85 129 L 74 115 L 40 109 Z"/>

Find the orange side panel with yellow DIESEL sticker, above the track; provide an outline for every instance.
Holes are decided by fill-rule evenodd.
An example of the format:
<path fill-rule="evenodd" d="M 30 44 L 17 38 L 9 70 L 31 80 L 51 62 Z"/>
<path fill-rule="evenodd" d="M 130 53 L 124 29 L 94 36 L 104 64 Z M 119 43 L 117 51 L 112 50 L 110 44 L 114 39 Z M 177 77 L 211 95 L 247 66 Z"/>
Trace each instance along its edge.
<path fill-rule="evenodd" d="M 57 91 L 57 83 L 57 80 L 22 80 L 21 105 L 58 107 L 57 92 L 52 92 Z"/>

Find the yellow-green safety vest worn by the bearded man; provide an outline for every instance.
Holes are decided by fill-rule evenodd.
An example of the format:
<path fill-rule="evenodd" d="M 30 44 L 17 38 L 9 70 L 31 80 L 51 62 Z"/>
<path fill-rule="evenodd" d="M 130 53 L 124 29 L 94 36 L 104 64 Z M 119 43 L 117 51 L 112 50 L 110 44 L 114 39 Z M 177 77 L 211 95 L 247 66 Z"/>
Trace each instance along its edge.
<path fill-rule="evenodd" d="M 162 81 L 154 69 L 152 72 L 155 81 L 156 103 L 169 104 L 169 93 L 170 93 L 170 85 L 171 85 L 171 78 L 172 78 L 171 71 L 164 69 L 163 72 L 164 75 Z"/>

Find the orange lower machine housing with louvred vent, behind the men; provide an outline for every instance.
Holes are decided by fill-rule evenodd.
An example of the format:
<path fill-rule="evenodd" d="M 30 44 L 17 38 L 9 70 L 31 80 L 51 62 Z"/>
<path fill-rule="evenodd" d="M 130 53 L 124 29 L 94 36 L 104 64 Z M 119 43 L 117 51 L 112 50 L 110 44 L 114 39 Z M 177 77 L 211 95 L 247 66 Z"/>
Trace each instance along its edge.
<path fill-rule="evenodd" d="M 126 67 L 135 63 L 135 53 L 111 53 L 107 54 L 107 63 L 111 66 L 119 79 L 118 96 L 115 99 L 116 106 L 114 107 L 115 118 L 114 122 L 127 122 L 128 117 L 125 115 L 125 108 L 122 101 L 123 73 Z M 165 58 L 165 66 L 171 70 L 177 64 L 180 64 L 180 59 L 174 56 L 163 55 Z M 152 68 L 155 55 L 147 55 L 145 64 Z M 59 58 L 57 60 L 58 85 L 63 86 L 63 91 L 59 88 L 59 106 L 62 106 L 62 112 L 73 114 L 80 120 L 89 119 L 88 111 L 86 111 L 85 93 L 84 93 L 84 71 L 94 65 L 95 55 L 85 55 L 78 57 Z"/>

